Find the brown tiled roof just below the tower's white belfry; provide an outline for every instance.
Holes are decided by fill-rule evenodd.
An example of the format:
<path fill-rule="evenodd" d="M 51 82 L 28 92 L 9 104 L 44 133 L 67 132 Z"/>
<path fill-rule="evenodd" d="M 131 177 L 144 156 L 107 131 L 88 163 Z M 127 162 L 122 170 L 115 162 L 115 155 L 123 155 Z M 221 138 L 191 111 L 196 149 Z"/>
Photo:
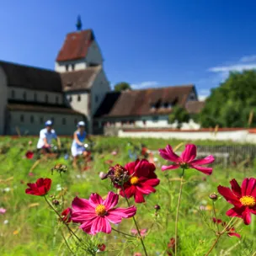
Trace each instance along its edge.
<path fill-rule="evenodd" d="M 61 73 L 63 91 L 79 91 L 90 89 L 95 77 L 102 69 L 101 66 L 88 67 L 84 70 Z"/>

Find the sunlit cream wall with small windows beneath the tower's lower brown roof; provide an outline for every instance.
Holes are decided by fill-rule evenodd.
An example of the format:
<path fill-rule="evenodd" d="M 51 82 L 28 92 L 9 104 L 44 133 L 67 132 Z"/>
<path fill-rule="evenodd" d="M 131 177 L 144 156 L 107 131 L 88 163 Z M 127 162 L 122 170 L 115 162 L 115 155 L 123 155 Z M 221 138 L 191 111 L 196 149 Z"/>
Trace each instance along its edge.
<path fill-rule="evenodd" d="M 78 95 L 80 95 L 81 100 L 78 101 Z M 65 93 L 66 100 L 68 104 L 72 107 L 72 109 L 83 113 L 83 115 L 88 116 L 88 99 L 89 99 L 89 93 L 87 92 L 70 92 Z M 70 98 L 72 97 L 72 101 L 70 102 Z"/>

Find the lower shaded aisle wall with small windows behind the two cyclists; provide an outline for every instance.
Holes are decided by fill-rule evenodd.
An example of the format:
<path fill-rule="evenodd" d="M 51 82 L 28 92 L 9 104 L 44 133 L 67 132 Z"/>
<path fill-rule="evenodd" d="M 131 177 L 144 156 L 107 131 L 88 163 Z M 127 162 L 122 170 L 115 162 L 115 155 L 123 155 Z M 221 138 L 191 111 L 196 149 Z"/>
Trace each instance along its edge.
<path fill-rule="evenodd" d="M 57 135 L 72 135 L 77 129 L 77 121 L 83 120 L 81 115 L 68 115 L 56 113 L 40 113 L 40 112 L 22 112 L 11 111 L 10 124 L 8 134 L 17 134 L 16 127 L 19 127 L 21 134 L 39 135 L 40 130 L 45 127 L 45 121 L 54 118 L 54 129 Z M 20 116 L 24 115 L 24 122 L 21 122 Z M 34 122 L 31 123 L 30 116 L 34 117 Z M 43 119 L 41 123 L 40 119 Z M 66 125 L 63 125 L 62 119 L 66 119 Z"/>

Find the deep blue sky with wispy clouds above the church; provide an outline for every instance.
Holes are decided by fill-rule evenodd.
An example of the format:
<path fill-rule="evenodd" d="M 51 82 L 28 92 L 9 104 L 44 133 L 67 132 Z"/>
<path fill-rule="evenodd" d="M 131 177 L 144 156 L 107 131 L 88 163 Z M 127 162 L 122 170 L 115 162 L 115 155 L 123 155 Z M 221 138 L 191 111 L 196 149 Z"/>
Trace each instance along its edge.
<path fill-rule="evenodd" d="M 195 83 L 203 96 L 229 71 L 256 67 L 255 8 L 250 0 L 3 1 L 0 59 L 53 69 L 81 14 L 110 83 Z"/>

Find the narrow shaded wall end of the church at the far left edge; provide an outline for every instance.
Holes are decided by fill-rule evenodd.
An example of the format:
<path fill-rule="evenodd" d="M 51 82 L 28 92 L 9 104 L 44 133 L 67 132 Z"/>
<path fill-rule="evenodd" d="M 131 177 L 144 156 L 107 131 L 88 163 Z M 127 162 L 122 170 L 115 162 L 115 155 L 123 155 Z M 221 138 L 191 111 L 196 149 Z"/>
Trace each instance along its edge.
<path fill-rule="evenodd" d="M 8 87 L 7 87 L 7 77 L 3 72 L 2 67 L 0 67 L 0 135 L 4 133 L 4 125 L 6 123 L 6 104 Z"/>

